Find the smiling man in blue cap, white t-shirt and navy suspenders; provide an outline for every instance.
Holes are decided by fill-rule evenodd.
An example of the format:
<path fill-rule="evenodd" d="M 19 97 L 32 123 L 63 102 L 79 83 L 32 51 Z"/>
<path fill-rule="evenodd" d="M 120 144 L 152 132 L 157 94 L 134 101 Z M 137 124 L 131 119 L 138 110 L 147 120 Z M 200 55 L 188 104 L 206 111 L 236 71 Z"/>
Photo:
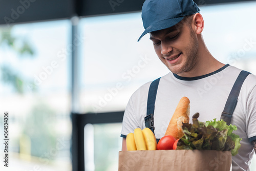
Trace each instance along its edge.
<path fill-rule="evenodd" d="M 155 102 L 156 138 L 164 136 L 170 118 L 181 97 L 190 100 L 191 117 L 199 120 L 220 119 L 229 93 L 241 70 L 215 59 L 204 43 L 204 20 L 192 0 L 146 0 L 142 7 L 145 31 L 150 33 L 155 52 L 170 73 L 161 77 Z M 139 39 L 140 39 L 139 38 Z M 144 129 L 147 96 L 151 82 L 140 87 L 127 104 L 121 131 L 122 150 L 126 135 Z M 249 74 L 243 82 L 231 124 L 237 125 L 241 140 L 239 154 L 232 157 L 232 170 L 249 170 L 256 152 L 256 76 Z"/>

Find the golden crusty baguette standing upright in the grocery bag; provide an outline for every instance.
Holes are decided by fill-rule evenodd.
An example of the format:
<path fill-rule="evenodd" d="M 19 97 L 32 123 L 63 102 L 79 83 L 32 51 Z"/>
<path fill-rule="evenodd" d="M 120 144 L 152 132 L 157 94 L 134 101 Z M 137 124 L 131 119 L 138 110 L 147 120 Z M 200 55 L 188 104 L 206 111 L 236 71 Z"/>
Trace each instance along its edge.
<path fill-rule="evenodd" d="M 182 130 L 182 122 L 189 123 L 190 101 L 187 97 L 182 97 L 176 107 L 172 119 L 165 132 L 165 135 L 172 135 L 176 139 L 181 138 L 184 133 Z"/>

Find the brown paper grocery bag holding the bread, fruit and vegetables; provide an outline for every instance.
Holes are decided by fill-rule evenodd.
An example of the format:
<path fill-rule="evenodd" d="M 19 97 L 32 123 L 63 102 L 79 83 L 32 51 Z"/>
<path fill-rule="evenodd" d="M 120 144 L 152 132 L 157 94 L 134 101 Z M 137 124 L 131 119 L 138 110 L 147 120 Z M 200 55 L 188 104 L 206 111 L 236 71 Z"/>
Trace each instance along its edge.
<path fill-rule="evenodd" d="M 156 150 L 119 152 L 119 171 L 229 171 L 231 152 L 215 150 Z"/>

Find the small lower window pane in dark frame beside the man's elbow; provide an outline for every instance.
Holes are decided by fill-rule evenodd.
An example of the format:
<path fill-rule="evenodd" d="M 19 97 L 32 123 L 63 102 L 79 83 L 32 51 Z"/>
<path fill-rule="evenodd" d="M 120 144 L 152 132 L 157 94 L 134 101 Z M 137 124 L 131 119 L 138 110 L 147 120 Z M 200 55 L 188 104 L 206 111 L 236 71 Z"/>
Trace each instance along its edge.
<path fill-rule="evenodd" d="M 88 171 L 118 170 L 121 123 L 87 124 L 84 127 L 85 168 Z"/>

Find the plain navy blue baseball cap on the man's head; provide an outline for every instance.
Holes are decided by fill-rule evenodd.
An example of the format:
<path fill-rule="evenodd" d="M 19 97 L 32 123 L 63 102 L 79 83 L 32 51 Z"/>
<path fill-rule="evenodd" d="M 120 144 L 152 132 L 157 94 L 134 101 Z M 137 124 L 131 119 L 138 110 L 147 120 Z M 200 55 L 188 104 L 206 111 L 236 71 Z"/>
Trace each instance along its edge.
<path fill-rule="evenodd" d="M 173 27 L 184 16 L 200 12 L 193 0 L 146 0 L 142 6 L 141 17 L 147 33 Z"/>

